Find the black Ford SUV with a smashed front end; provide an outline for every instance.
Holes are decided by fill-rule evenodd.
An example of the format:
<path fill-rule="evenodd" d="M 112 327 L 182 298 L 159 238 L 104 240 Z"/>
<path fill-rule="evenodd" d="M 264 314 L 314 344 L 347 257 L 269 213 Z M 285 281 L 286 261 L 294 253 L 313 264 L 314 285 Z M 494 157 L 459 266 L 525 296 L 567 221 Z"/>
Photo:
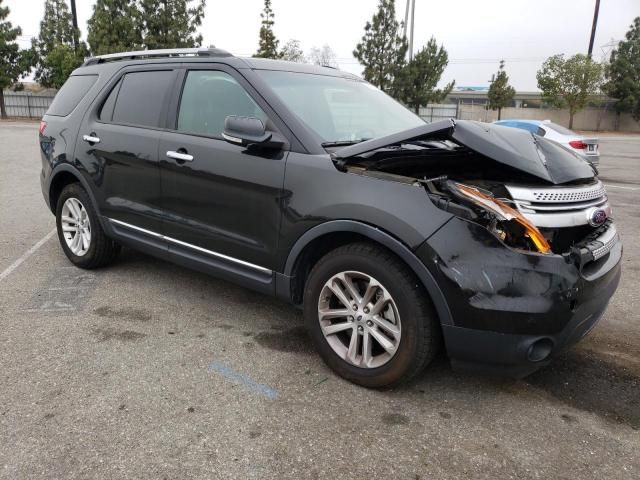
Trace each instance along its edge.
<path fill-rule="evenodd" d="M 120 245 L 304 310 L 361 385 L 455 367 L 526 375 L 602 317 L 622 244 L 572 152 L 425 123 L 358 77 L 216 49 L 105 55 L 40 126 L 42 191 L 81 268 Z"/>

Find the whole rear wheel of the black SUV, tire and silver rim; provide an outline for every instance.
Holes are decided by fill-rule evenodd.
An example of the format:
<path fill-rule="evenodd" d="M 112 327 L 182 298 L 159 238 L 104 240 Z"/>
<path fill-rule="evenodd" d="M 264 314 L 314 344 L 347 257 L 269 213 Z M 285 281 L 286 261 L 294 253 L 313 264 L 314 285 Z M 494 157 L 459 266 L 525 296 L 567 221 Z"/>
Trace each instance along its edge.
<path fill-rule="evenodd" d="M 56 207 L 56 227 L 62 250 L 80 268 L 104 266 L 120 250 L 104 234 L 89 195 L 78 183 L 62 190 Z"/>

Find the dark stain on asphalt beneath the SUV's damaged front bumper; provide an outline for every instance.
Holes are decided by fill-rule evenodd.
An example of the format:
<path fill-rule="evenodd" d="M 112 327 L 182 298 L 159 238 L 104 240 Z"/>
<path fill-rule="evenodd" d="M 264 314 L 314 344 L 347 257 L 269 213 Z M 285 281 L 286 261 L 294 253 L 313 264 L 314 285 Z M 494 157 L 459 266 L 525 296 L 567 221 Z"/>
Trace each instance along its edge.
<path fill-rule="evenodd" d="M 558 400 L 640 430 L 640 377 L 582 352 L 568 352 L 525 381 Z M 563 416 L 567 423 L 570 415 Z"/>

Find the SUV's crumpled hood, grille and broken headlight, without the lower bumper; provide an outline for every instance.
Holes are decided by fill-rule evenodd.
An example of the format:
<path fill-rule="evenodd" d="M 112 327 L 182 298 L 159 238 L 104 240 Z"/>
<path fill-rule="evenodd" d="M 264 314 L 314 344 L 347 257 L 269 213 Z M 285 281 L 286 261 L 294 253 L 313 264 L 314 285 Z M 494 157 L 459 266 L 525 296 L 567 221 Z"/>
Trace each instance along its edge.
<path fill-rule="evenodd" d="M 350 173 L 420 186 L 436 207 L 521 251 L 567 255 L 584 265 L 617 240 L 594 167 L 523 130 L 447 120 L 343 148 L 332 158 Z"/>

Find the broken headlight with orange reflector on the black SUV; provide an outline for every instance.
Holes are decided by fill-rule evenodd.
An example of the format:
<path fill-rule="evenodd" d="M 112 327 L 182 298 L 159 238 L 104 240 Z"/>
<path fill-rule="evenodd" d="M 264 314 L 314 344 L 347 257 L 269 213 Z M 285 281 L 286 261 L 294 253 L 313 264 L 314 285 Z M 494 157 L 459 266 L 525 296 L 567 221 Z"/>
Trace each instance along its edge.
<path fill-rule="evenodd" d="M 447 181 L 447 190 L 480 209 L 485 226 L 510 247 L 538 253 L 551 253 L 551 246 L 540 230 L 519 211 L 495 198 L 490 192 L 463 183 Z"/>

